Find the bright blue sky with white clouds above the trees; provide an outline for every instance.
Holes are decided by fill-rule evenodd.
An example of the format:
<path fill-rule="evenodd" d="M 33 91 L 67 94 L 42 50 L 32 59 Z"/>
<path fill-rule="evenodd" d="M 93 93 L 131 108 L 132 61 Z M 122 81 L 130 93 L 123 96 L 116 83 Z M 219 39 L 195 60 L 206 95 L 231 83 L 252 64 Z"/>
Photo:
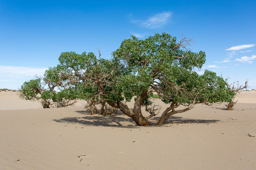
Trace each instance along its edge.
<path fill-rule="evenodd" d="M 256 0 L 0 0 L 0 88 L 18 89 L 58 64 L 61 52 L 103 58 L 124 39 L 192 37 L 204 69 L 256 89 Z"/>

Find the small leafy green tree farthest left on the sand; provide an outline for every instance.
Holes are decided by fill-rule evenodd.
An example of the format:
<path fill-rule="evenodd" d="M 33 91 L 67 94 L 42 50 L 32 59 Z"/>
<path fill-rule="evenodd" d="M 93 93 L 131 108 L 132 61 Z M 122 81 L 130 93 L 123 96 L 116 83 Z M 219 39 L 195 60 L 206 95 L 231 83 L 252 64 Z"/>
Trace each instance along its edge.
<path fill-rule="evenodd" d="M 21 85 L 20 97 L 25 100 L 39 101 L 43 108 L 50 108 L 52 105 L 55 107 L 73 105 L 77 100 L 77 93 L 66 84 L 64 76 L 60 80 L 62 73 L 63 70 L 60 67 L 49 68 L 43 78 L 36 76 L 36 79 L 24 82 Z"/>

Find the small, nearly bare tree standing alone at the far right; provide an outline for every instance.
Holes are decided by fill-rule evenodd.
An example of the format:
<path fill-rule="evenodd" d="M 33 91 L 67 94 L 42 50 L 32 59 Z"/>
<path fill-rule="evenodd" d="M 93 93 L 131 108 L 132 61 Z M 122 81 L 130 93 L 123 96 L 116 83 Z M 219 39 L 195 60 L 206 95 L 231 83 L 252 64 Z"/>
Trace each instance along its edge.
<path fill-rule="evenodd" d="M 243 89 L 246 89 L 248 87 L 247 83 L 248 83 L 248 80 L 246 80 L 245 82 L 245 85 L 240 85 L 238 81 L 232 83 L 232 84 L 229 84 L 228 83 L 228 78 L 226 78 L 226 85 L 229 89 L 231 89 L 231 91 L 235 94 L 232 98 L 232 100 L 226 104 L 226 107 L 227 107 L 227 110 L 232 110 L 233 106 L 238 102 L 236 101 L 235 102 L 235 97 L 237 96 L 237 93 L 239 93 L 240 90 L 243 90 Z"/>

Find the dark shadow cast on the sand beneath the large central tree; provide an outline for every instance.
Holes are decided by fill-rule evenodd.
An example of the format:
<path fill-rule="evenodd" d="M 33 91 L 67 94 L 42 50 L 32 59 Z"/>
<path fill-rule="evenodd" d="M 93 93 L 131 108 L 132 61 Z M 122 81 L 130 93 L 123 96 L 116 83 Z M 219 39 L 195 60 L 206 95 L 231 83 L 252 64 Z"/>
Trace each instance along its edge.
<path fill-rule="evenodd" d="M 85 115 L 83 117 L 70 117 L 63 119 L 54 119 L 56 122 L 60 123 L 77 123 L 84 126 L 103 126 L 103 127 L 137 127 L 137 124 L 133 119 L 123 116 L 121 111 L 118 111 L 112 115 L 91 115 L 85 110 L 78 110 L 77 113 Z M 154 117 L 150 119 L 151 125 L 155 125 L 159 117 Z M 165 121 L 165 125 L 168 124 L 183 124 L 183 123 L 215 123 L 219 120 L 206 120 L 206 119 L 183 119 L 182 117 L 170 116 L 169 119 Z"/>

